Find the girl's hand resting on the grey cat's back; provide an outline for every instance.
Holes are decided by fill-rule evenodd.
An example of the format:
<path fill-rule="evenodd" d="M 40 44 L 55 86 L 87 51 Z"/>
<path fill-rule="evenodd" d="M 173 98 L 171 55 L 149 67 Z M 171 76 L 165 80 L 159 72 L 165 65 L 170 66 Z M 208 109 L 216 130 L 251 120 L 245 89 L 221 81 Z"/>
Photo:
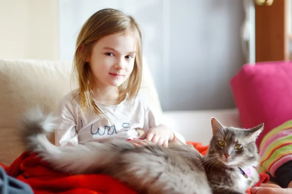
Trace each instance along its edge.
<path fill-rule="evenodd" d="M 168 147 L 168 141 L 174 139 L 174 134 L 168 126 L 161 124 L 146 131 L 139 139 Z"/>

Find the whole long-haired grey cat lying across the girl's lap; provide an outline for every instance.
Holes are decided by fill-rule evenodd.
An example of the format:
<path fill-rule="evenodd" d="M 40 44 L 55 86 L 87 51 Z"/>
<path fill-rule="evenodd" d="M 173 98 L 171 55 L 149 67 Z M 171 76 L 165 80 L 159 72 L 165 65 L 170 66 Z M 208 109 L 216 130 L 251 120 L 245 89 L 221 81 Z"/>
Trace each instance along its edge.
<path fill-rule="evenodd" d="M 255 140 L 263 124 L 238 129 L 212 118 L 213 138 L 203 157 L 189 145 L 134 147 L 121 140 L 57 147 L 46 137 L 54 123 L 51 115 L 27 114 L 21 124 L 27 150 L 56 170 L 108 174 L 139 194 L 245 194 L 259 180 Z"/>

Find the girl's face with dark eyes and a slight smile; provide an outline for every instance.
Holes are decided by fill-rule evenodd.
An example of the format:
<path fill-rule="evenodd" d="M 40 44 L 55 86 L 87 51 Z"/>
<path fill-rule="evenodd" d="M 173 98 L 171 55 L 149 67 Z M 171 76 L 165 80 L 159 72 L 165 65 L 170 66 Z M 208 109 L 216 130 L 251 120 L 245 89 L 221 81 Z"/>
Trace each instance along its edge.
<path fill-rule="evenodd" d="M 88 57 L 95 87 L 123 84 L 133 71 L 135 52 L 134 35 L 113 34 L 97 41 Z"/>

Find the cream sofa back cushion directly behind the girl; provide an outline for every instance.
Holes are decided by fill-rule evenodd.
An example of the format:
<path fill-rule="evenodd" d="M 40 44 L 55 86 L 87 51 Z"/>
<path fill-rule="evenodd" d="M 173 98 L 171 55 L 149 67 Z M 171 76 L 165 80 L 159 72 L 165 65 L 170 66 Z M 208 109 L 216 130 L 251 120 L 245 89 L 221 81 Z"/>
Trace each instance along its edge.
<path fill-rule="evenodd" d="M 55 109 L 74 87 L 71 62 L 45 60 L 0 60 L 0 162 L 8 165 L 23 151 L 17 125 L 22 114 L 36 106 Z M 154 111 L 162 113 L 157 90 L 144 64 L 141 93 Z"/>

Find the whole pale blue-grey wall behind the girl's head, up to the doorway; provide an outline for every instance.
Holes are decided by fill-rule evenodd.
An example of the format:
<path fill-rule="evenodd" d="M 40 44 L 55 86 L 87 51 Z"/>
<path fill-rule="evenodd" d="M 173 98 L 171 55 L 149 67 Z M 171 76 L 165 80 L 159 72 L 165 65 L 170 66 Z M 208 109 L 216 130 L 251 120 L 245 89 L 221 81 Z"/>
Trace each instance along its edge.
<path fill-rule="evenodd" d="M 241 0 L 60 0 L 61 60 L 73 59 L 82 24 L 107 7 L 141 25 L 164 111 L 235 107 L 229 80 L 245 62 Z"/>

